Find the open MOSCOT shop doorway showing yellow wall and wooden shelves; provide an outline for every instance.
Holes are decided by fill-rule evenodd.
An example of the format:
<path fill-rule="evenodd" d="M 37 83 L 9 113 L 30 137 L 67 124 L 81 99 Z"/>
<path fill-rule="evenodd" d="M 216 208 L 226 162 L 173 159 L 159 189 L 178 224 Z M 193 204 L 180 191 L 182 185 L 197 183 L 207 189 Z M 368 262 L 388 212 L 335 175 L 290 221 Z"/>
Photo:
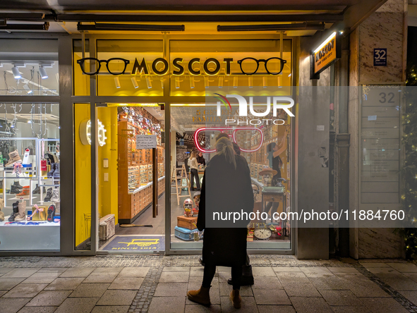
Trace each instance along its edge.
<path fill-rule="evenodd" d="M 99 251 L 164 252 L 163 106 L 107 104 L 97 118 Z"/>

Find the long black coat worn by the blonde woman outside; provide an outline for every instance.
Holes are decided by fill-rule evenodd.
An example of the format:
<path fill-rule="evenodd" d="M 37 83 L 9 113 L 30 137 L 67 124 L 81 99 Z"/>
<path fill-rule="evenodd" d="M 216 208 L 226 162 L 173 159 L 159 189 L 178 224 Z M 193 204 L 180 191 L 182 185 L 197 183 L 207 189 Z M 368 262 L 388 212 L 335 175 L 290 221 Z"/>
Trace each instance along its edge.
<path fill-rule="evenodd" d="M 218 266 L 246 264 L 246 228 L 249 220 L 220 222 L 219 227 L 206 227 L 213 211 L 253 211 L 253 191 L 246 160 L 236 156 L 236 169 L 224 156 L 214 156 L 203 177 L 197 227 L 204 231 L 203 262 Z M 212 225 L 207 220 L 207 226 Z M 216 221 L 217 223 L 217 221 Z M 236 226 L 238 226 L 236 228 Z"/>

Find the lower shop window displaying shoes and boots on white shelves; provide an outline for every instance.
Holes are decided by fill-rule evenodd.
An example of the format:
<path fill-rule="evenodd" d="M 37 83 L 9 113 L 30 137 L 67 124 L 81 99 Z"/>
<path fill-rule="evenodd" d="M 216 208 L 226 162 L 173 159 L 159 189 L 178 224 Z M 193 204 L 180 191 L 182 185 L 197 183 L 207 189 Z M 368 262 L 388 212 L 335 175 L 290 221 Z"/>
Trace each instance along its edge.
<path fill-rule="evenodd" d="M 1 251 L 59 250 L 59 104 L 0 104 Z"/>

